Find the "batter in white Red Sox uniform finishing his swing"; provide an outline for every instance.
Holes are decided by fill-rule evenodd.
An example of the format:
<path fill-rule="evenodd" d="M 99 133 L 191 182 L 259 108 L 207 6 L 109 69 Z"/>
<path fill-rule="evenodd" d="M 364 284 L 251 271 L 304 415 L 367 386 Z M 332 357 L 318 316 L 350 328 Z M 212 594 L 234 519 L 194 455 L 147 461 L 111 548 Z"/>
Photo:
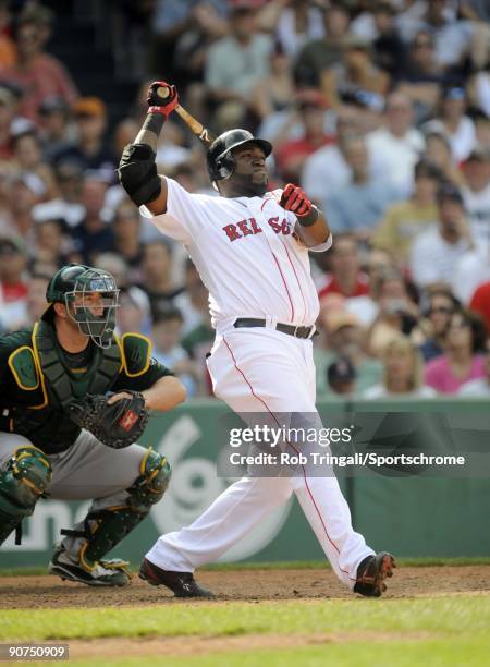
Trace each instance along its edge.
<path fill-rule="evenodd" d="M 319 427 L 311 353 L 319 304 L 308 252 L 331 246 L 328 223 L 299 187 L 267 191 L 272 146 L 244 130 L 221 134 L 208 149 L 220 196 L 189 194 L 158 175 L 157 138 L 176 104 L 174 86 L 151 84 L 147 119 L 121 158 L 121 183 L 162 233 L 185 244 L 209 290 L 217 336 L 207 363 L 216 396 L 242 416 L 266 413 L 279 424 L 277 415 L 301 414 Z M 306 466 L 231 485 L 192 525 L 158 539 L 140 577 L 176 596 L 211 596 L 195 568 L 218 559 L 292 493 L 340 580 L 380 596 L 393 557 L 375 554 L 353 530 L 336 478 L 313 476 Z"/>

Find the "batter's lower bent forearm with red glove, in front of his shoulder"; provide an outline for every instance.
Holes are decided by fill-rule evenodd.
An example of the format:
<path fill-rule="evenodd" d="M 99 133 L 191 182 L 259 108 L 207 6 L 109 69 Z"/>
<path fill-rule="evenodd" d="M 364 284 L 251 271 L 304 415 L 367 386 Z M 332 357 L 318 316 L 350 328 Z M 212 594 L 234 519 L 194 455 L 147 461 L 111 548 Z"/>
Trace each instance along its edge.
<path fill-rule="evenodd" d="M 296 216 L 298 221 L 296 233 L 308 247 L 327 243 L 331 234 L 327 218 L 311 204 L 298 185 L 287 183 L 279 203 L 285 210 Z"/>

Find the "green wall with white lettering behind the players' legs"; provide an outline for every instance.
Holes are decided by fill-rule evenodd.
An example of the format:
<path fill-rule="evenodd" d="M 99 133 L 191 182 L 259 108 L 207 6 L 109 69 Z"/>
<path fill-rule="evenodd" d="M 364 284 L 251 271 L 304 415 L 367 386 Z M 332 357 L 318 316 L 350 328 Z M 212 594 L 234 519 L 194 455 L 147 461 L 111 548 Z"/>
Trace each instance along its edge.
<path fill-rule="evenodd" d="M 320 402 L 323 424 L 350 424 L 354 442 L 369 449 L 469 452 L 471 464 L 434 474 L 430 466 L 339 469 L 354 526 L 375 549 L 400 557 L 477 557 L 490 555 L 490 402 L 430 400 L 412 402 Z M 223 403 L 189 402 L 154 416 L 143 444 L 166 453 L 173 476 L 156 506 L 113 555 L 136 565 L 158 535 L 191 523 L 233 480 L 217 476 L 216 461 L 226 454 Z M 47 563 L 59 531 L 85 516 L 89 502 L 41 500 L 24 522 L 23 544 L 11 535 L 0 547 L 0 568 Z M 237 510 L 240 511 L 240 509 Z M 318 543 L 293 498 L 235 545 L 222 560 L 275 561 L 322 558 Z"/>

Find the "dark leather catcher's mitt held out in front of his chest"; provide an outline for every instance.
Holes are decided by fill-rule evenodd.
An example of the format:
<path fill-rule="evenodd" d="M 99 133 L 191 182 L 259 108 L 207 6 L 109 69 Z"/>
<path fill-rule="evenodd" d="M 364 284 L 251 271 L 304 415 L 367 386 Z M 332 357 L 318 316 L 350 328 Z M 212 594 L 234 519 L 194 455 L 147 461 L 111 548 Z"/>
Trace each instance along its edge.
<path fill-rule="evenodd" d="M 145 430 L 148 410 L 145 399 L 138 391 L 124 390 L 131 398 L 122 398 L 108 404 L 113 396 L 87 393 L 69 404 L 70 417 L 81 428 L 86 428 L 95 437 L 112 449 L 123 449 L 133 445 Z"/>

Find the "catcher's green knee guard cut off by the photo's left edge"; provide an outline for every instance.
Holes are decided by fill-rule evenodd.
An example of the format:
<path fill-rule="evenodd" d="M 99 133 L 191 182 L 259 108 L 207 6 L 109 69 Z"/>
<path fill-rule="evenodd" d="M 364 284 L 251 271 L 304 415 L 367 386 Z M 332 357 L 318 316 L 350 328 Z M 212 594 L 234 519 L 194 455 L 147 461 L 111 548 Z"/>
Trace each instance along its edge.
<path fill-rule="evenodd" d="M 0 472 L 0 544 L 34 512 L 37 500 L 51 482 L 51 464 L 37 447 L 15 450 Z M 17 535 L 19 543 L 20 535 Z"/>

